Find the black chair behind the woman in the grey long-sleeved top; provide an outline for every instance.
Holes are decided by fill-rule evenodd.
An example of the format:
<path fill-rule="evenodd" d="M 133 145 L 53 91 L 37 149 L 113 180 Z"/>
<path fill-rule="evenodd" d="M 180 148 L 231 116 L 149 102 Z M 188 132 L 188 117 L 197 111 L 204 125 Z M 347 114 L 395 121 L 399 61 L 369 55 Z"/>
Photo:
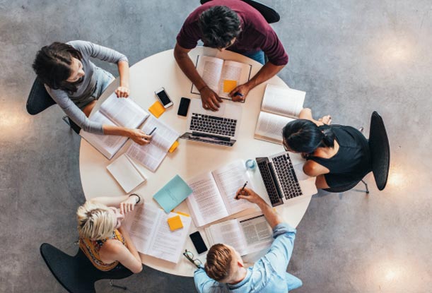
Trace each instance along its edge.
<path fill-rule="evenodd" d="M 52 100 L 52 97 L 49 95 L 43 83 L 39 80 L 39 78 L 35 79 L 35 82 L 32 85 L 32 89 L 30 90 L 30 94 L 27 98 L 27 104 L 25 107 L 27 109 L 28 114 L 36 115 L 40 112 L 48 109 L 56 102 Z M 76 133 L 79 133 L 81 128 L 75 124 L 68 116 L 63 117 L 63 121 L 74 130 Z"/>

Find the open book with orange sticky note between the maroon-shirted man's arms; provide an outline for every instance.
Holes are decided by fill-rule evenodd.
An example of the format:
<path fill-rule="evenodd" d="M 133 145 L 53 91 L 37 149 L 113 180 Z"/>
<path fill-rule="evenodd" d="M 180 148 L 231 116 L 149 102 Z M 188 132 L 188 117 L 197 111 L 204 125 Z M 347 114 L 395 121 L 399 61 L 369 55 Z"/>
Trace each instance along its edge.
<path fill-rule="evenodd" d="M 197 57 L 199 76 L 219 97 L 228 100 L 232 100 L 228 95 L 231 90 L 249 80 L 251 69 L 252 65 L 250 64 L 211 56 L 198 55 Z M 191 92 L 199 95 L 199 90 L 193 84 Z"/>

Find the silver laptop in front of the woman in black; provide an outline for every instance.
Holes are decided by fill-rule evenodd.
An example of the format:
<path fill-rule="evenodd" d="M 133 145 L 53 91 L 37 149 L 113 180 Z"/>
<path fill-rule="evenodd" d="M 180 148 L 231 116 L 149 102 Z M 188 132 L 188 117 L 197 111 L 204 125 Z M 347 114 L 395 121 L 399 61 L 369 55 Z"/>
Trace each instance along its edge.
<path fill-rule="evenodd" d="M 303 162 L 291 160 L 288 152 L 256 160 L 272 206 L 317 193 L 315 179 L 303 173 Z"/>

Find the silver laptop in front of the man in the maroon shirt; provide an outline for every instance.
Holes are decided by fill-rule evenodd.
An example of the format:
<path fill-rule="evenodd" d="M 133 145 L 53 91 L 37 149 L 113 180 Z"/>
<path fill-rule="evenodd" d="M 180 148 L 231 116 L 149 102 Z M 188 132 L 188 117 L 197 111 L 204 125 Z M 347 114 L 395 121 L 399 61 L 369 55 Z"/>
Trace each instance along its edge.
<path fill-rule="evenodd" d="M 187 131 L 180 138 L 233 146 L 237 140 L 242 107 L 222 102 L 217 112 L 203 109 L 201 99 L 192 99 L 187 114 Z"/>

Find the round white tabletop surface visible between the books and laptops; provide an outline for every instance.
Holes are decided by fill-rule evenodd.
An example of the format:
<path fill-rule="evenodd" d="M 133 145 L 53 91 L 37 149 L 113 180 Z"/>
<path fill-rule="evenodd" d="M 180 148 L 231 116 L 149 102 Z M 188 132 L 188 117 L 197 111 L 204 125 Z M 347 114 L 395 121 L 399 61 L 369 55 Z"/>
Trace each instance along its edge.
<path fill-rule="evenodd" d="M 189 56 L 191 56 L 192 60 L 195 61 L 199 54 L 218 56 L 222 59 L 252 64 L 251 76 L 254 76 L 255 73 L 259 71 L 259 68 L 262 67 L 261 64 L 243 55 L 229 51 L 218 52 L 216 49 L 204 47 L 193 49 L 189 53 Z M 288 87 L 284 81 L 277 76 L 270 79 L 268 83 Z M 115 90 L 117 84 L 118 78 L 109 88 L 107 88 L 102 97 L 100 97 L 98 104 L 103 102 L 103 100 L 105 100 L 105 98 Z M 148 107 L 156 101 L 154 90 L 160 87 L 164 87 L 168 92 L 168 95 L 170 95 L 171 100 L 174 102 L 174 106 L 167 109 L 159 119 L 175 128 L 179 133 L 184 133 L 187 128 L 187 119 L 177 115 L 180 98 L 199 98 L 199 95 L 191 94 L 192 83 L 177 66 L 172 49 L 149 56 L 130 68 L 131 97 L 143 109 L 147 110 Z M 250 91 L 249 95 L 247 95 L 245 103 L 242 104 L 243 114 L 240 125 L 240 134 L 233 148 L 211 145 L 208 143 L 198 143 L 190 140 L 179 140 L 180 145 L 177 150 L 173 153 L 168 153 L 167 157 L 165 157 L 165 160 L 163 160 L 155 173 L 150 172 L 144 167 L 141 168 L 147 177 L 147 181 L 144 184 L 141 184 L 141 186 L 139 186 L 134 192 L 144 196 L 146 203 L 157 205 L 157 203 L 153 201 L 153 194 L 170 179 L 175 177 L 176 174 L 179 174 L 180 177 L 187 181 L 197 174 L 209 172 L 233 162 L 234 160 L 255 159 L 255 157 L 274 155 L 284 151 L 282 145 L 268 143 L 253 138 L 259 109 L 261 107 L 262 96 L 264 94 L 264 88 L 265 84 L 254 88 Z M 224 100 L 224 102 L 231 103 L 231 101 L 228 100 Z M 110 162 L 124 153 L 130 143 L 131 142 L 128 141 L 119 153 L 109 161 L 100 154 L 98 150 L 95 150 L 95 148 L 89 145 L 86 140 L 81 139 L 79 166 L 81 172 L 81 183 L 83 184 L 83 191 L 87 199 L 96 196 L 118 196 L 125 194 L 122 188 L 117 184 L 117 181 L 115 181 L 109 172 L 107 172 L 106 167 Z M 253 183 L 255 184 L 255 190 L 257 193 L 267 197 L 265 196 L 267 193 L 264 184 L 262 183 L 262 179 L 259 176 L 259 171 L 256 169 L 255 172 L 251 172 L 251 175 L 254 178 Z M 296 227 L 302 219 L 306 208 L 308 208 L 310 198 L 311 196 L 306 196 L 301 200 L 293 201 L 293 203 L 290 203 L 289 205 L 281 205 L 276 208 L 276 210 L 281 214 L 286 222 L 291 226 Z M 185 202 L 179 205 L 176 210 L 189 213 Z M 239 215 L 243 214 L 240 213 L 236 215 L 236 217 Z M 230 218 L 233 218 L 233 216 Z M 205 238 L 204 230 L 202 228 L 199 230 L 206 242 L 206 245 L 209 247 L 209 243 Z M 197 231 L 197 228 L 194 227 L 192 222 L 189 234 L 194 231 Z M 185 249 L 192 251 L 195 256 L 197 256 L 197 252 L 195 251 L 189 237 L 187 237 Z M 202 253 L 198 256 L 203 263 L 205 257 L 206 253 Z M 183 258 L 183 256 L 177 264 L 162 261 L 158 258 L 153 258 L 144 254 L 141 254 L 141 261 L 151 268 L 175 275 L 192 276 L 195 269 L 194 265 L 189 263 L 185 258 Z"/>

